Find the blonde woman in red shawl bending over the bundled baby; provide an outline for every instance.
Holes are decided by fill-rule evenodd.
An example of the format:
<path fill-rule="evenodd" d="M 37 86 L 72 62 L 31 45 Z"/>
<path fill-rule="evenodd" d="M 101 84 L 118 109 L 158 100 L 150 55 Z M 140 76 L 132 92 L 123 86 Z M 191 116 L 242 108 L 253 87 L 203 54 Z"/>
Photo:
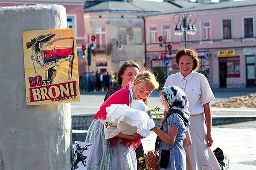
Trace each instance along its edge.
<path fill-rule="evenodd" d="M 131 84 L 112 94 L 93 117 L 85 142 L 93 147 L 88 160 L 88 170 L 137 170 L 137 158 L 134 148 L 128 148 L 126 139 L 140 142 L 142 136 L 138 133 L 125 135 L 119 133 L 111 139 L 105 139 L 104 128 L 107 117 L 106 108 L 111 104 L 130 105 L 134 99 L 146 100 L 151 92 L 158 88 L 156 77 L 150 71 L 139 73 Z"/>

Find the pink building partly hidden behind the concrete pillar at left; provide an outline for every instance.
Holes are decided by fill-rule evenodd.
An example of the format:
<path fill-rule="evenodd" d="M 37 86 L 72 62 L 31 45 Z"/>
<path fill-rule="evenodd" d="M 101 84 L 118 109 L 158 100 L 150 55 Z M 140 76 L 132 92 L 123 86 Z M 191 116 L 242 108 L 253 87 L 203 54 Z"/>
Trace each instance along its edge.
<path fill-rule="evenodd" d="M 59 4 L 67 10 L 67 28 L 73 28 L 76 35 L 78 51 L 79 76 L 85 71 L 85 58 L 82 57 L 81 46 L 87 39 L 84 35 L 84 3 L 85 0 L 12 0 L 0 1 L 1 6 L 20 6 L 35 4 Z"/>

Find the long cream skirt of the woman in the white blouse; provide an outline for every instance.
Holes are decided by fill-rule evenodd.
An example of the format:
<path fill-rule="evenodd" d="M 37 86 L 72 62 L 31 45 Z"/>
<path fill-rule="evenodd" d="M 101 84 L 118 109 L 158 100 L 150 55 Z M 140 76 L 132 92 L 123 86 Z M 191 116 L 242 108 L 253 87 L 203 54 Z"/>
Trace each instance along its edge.
<path fill-rule="evenodd" d="M 205 136 L 207 129 L 204 122 L 204 113 L 191 115 L 189 121 L 192 144 L 185 149 L 186 170 L 201 170 L 201 167 L 205 164 L 211 165 L 214 170 L 221 170 L 211 147 L 206 147 Z"/>

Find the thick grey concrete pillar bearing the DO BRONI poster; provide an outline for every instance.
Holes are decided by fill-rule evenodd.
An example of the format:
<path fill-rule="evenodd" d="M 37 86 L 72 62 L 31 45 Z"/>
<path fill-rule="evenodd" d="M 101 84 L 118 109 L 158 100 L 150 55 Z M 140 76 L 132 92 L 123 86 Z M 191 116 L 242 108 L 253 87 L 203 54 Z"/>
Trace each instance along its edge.
<path fill-rule="evenodd" d="M 70 170 L 70 103 L 26 105 L 22 31 L 67 28 L 61 5 L 0 8 L 0 170 Z"/>

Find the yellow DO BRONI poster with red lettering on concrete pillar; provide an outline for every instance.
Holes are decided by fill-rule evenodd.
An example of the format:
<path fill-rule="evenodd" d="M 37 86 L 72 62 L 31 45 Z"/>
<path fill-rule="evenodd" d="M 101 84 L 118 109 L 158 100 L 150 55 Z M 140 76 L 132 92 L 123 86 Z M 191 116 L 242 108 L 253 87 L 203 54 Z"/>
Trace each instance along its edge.
<path fill-rule="evenodd" d="M 80 101 L 72 28 L 23 31 L 23 52 L 27 105 Z"/>

